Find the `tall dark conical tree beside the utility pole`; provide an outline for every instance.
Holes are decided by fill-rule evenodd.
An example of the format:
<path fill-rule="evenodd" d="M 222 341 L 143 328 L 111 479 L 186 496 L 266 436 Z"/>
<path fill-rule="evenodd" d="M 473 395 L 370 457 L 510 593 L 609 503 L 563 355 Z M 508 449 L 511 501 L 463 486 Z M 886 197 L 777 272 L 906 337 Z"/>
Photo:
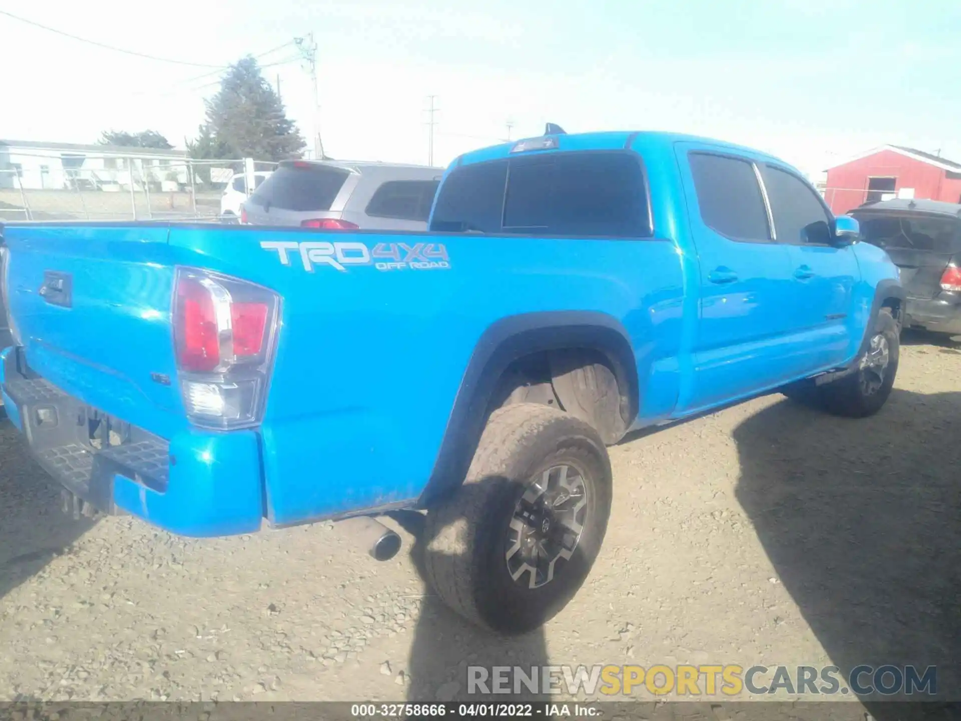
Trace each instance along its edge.
<path fill-rule="evenodd" d="M 187 144 L 191 158 L 301 157 L 307 143 L 251 56 L 230 66 L 220 89 L 204 104 L 206 121 L 197 139 Z"/>

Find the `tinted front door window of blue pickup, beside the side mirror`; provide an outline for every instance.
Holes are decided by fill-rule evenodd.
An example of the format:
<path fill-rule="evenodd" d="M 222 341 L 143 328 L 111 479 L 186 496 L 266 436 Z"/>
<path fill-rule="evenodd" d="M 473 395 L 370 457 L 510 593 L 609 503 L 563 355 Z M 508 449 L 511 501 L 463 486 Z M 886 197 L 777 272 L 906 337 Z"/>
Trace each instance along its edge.
<path fill-rule="evenodd" d="M 761 171 L 775 218 L 777 242 L 829 245 L 831 219 L 825 207 L 800 178 L 765 165 Z"/>

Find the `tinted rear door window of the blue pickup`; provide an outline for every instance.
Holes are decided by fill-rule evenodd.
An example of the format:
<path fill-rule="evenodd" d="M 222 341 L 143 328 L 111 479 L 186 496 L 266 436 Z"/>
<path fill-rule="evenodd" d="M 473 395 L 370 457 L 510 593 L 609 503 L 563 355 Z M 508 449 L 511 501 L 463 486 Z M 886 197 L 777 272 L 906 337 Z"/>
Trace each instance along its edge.
<path fill-rule="evenodd" d="M 750 162 L 725 156 L 688 155 L 704 224 L 722 236 L 770 242 L 768 211 Z"/>

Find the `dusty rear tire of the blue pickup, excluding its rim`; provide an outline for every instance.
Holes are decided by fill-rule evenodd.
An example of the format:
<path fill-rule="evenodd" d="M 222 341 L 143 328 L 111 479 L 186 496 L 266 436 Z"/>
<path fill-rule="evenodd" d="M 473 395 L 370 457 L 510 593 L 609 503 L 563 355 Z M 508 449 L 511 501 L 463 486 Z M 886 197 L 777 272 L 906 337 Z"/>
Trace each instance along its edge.
<path fill-rule="evenodd" d="M 508 569 L 506 555 L 516 545 L 510 535 L 519 533 L 511 531 L 516 528 L 511 524 L 517 522 L 515 512 L 530 482 L 556 468 L 579 474 L 586 514 L 570 559 L 552 566 L 551 580 L 530 587 L 533 569 L 520 582 Z M 566 478 L 568 471 L 564 473 Z M 428 580 L 444 603 L 475 624 L 501 634 L 529 632 L 577 593 L 601 549 L 610 503 L 610 461 L 593 428 L 538 404 L 495 410 L 464 484 L 428 511 Z"/>

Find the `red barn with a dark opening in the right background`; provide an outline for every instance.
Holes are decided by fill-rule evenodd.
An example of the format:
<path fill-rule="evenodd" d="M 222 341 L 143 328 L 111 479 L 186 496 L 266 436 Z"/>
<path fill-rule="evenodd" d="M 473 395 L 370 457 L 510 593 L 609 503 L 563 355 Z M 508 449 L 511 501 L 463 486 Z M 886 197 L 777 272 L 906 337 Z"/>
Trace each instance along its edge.
<path fill-rule="evenodd" d="M 891 198 L 961 203 L 961 163 L 882 145 L 827 170 L 825 200 L 835 215 Z"/>

